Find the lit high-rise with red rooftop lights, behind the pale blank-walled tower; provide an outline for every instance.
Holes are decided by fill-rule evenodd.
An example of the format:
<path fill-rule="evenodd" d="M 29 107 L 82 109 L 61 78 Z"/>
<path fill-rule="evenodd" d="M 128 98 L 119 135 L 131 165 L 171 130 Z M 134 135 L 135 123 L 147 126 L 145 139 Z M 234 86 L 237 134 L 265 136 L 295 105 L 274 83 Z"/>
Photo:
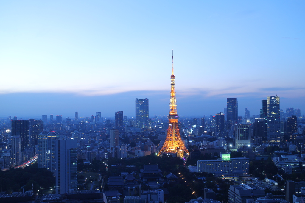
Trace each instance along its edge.
<path fill-rule="evenodd" d="M 55 141 L 58 138 L 55 131 L 42 132 L 38 135 L 38 168 L 46 168 L 55 172 Z"/>

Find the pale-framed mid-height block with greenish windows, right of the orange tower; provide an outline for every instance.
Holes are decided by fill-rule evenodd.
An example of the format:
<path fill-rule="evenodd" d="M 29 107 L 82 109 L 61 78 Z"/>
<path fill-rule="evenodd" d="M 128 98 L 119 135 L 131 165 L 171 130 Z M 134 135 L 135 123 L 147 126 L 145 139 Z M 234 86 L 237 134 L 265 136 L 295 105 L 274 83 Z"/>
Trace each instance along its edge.
<path fill-rule="evenodd" d="M 235 125 L 235 148 L 251 144 L 250 125 Z"/>

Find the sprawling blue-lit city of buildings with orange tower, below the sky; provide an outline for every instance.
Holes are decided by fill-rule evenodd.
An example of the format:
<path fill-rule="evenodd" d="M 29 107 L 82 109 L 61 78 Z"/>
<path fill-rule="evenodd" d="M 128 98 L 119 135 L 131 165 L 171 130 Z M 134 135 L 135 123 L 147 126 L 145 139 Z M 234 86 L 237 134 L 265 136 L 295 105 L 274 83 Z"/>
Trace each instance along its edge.
<path fill-rule="evenodd" d="M 261 100 L 260 115 L 250 116 L 246 108 L 244 115 L 239 116 L 237 98 L 227 98 L 226 106 L 215 115 L 179 118 L 172 66 L 167 118 L 149 116 L 148 98 L 135 99 L 134 117 L 127 117 L 123 111 L 114 112 L 114 118 L 104 118 L 102 112 L 81 117 L 77 111 L 74 117 L 65 119 L 59 115 L 42 115 L 41 119 L 8 116 L 1 119 L 2 171 L 38 167 L 51 172 L 55 182 L 53 189 L 40 189 L 40 195 L 33 186 L 31 191 L 22 192 L 9 188 L 0 195 L 0 201 L 173 202 L 167 191 L 171 184 L 180 181 L 190 187 L 208 177 L 213 178 L 215 185 L 208 187 L 204 182 L 204 197 L 195 194 L 199 191 L 194 186 L 192 194 L 184 200 L 191 203 L 303 201 L 305 182 L 300 180 L 304 176 L 298 182 L 289 178 L 292 174 L 305 173 L 305 116 L 301 110 L 280 109 L 278 95 Z M 148 156 L 160 157 L 159 161 L 176 158 L 181 162 L 169 174 L 159 168 L 158 162 L 143 164 L 139 171 L 135 171 L 136 166 L 126 165 L 120 174 L 113 172 L 118 172 L 115 167 L 122 160 Z M 110 166 L 111 162 L 116 164 Z M 88 180 L 93 172 L 90 167 L 97 163 L 106 168 L 95 170 L 96 180 Z M 271 167 L 260 171 L 258 164 Z M 128 167 L 135 170 L 131 172 Z M 182 180 L 184 177 L 178 172 L 184 169 L 196 180 L 189 183 Z M 272 172 L 268 174 L 270 169 Z M 90 188 L 85 187 L 86 181 Z M 219 190 L 219 184 L 225 184 L 227 190 Z"/>

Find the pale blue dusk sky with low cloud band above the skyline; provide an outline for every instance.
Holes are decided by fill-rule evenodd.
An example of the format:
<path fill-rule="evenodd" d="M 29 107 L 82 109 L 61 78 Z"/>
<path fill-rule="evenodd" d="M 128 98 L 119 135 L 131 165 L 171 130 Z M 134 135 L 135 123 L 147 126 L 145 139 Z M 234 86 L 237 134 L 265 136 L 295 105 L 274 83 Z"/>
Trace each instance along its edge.
<path fill-rule="evenodd" d="M 305 105 L 305 1 L 1 1 L 0 117 Z"/>

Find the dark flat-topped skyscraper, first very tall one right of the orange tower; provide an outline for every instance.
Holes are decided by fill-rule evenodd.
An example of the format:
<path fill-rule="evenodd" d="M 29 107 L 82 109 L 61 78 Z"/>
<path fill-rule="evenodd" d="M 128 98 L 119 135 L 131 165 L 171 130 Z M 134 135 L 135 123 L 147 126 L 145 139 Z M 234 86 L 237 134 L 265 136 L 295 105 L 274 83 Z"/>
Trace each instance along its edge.
<path fill-rule="evenodd" d="M 238 124 L 237 98 L 227 98 L 227 130 L 235 124 Z"/>

